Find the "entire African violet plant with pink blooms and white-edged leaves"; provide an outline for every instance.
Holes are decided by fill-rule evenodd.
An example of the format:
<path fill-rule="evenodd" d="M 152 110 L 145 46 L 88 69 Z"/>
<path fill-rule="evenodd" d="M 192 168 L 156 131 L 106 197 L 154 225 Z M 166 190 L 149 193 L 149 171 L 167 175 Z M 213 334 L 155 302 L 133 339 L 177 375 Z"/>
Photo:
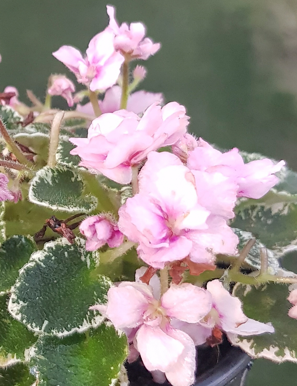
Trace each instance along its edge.
<path fill-rule="evenodd" d="M 195 139 L 185 107 L 134 92 L 146 70 L 131 64 L 160 44 L 107 13 L 85 55 L 53 53 L 83 90 L 55 74 L 44 103 L 0 94 L 0 384 L 125 383 L 140 356 L 189 386 L 195 345 L 223 334 L 297 362 L 297 275 L 279 264 L 296 249 L 297 174 Z"/>

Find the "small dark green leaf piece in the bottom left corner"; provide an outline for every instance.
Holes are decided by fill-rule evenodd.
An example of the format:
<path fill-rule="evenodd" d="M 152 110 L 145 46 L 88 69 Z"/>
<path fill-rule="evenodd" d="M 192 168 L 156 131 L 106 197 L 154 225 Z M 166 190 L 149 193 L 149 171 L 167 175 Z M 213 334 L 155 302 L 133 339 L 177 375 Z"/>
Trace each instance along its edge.
<path fill-rule="evenodd" d="M 7 369 L 0 369 L 0 386 L 33 386 L 36 378 L 30 374 L 24 363 L 17 363 Z"/>

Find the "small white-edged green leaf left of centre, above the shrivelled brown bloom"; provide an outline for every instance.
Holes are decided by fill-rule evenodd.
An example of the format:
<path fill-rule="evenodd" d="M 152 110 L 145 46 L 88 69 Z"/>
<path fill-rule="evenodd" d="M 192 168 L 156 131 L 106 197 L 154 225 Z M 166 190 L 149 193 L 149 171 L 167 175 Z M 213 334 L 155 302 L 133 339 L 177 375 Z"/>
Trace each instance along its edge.
<path fill-rule="evenodd" d="M 93 196 L 83 196 L 84 184 L 76 171 L 55 166 L 37 171 L 29 188 L 32 203 L 66 212 L 91 212 L 97 206 Z"/>

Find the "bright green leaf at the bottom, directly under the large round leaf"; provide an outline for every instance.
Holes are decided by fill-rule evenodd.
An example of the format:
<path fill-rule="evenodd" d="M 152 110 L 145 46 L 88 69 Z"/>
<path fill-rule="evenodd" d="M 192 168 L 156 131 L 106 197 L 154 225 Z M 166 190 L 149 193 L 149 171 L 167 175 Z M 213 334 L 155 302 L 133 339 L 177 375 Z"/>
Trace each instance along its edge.
<path fill-rule="evenodd" d="M 30 364 L 40 386 L 109 386 L 126 357 L 126 335 L 102 324 L 86 335 L 42 337 Z"/>

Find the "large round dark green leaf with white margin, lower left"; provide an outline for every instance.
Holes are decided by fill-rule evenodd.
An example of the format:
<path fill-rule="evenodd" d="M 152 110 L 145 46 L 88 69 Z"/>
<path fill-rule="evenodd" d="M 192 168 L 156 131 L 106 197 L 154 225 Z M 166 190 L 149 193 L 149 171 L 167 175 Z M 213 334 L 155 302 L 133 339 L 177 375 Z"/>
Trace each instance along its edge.
<path fill-rule="evenodd" d="M 94 275 L 97 260 L 79 238 L 44 244 L 20 270 L 8 311 L 29 330 L 59 337 L 100 325 L 103 317 L 89 307 L 106 303 L 111 283 Z"/>

